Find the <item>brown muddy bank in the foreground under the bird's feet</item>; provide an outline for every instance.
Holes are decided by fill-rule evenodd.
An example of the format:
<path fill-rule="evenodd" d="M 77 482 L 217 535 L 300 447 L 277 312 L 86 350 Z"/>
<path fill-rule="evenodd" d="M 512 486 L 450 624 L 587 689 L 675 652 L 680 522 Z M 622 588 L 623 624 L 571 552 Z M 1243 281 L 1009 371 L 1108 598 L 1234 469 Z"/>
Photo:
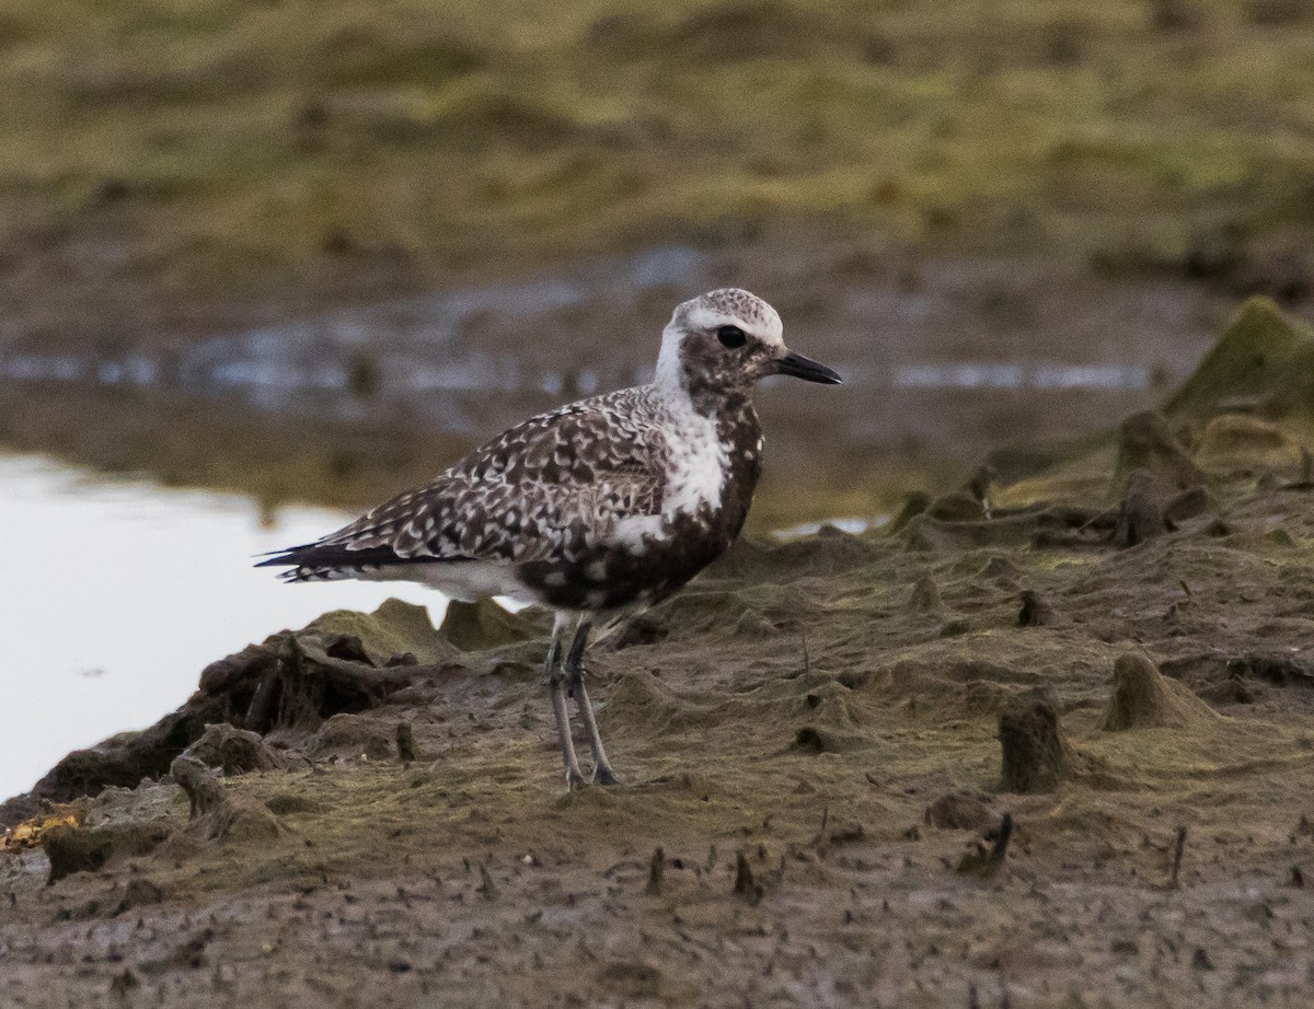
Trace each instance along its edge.
<path fill-rule="evenodd" d="M 1160 414 L 738 545 L 593 657 L 623 787 L 533 611 L 221 660 L 0 808 L 0 1000 L 1307 1005 L 1311 382 L 1255 302 Z"/>

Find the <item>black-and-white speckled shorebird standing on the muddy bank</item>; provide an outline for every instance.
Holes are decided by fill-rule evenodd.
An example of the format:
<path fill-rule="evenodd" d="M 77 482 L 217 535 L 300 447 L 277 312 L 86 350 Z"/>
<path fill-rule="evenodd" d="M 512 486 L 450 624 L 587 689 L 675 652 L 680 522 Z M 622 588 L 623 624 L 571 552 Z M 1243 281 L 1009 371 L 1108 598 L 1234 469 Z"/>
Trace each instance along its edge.
<path fill-rule="evenodd" d="M 784 346 L 765 301 L 708 292 L 675 307 L 649 385 L 526 420 L 427 486 L 260 566 L 290 568 L 290 582 L 402 579 L 464 602 L 549 607 L 544 673 L 566 787 L 583 784 L 568 691 L 593 780 L 615 784 L 583 682 L 589 635 L 665 599 L 738 535 L 762 468 L 753 388 L 771 374 L 841 381 Z"/>

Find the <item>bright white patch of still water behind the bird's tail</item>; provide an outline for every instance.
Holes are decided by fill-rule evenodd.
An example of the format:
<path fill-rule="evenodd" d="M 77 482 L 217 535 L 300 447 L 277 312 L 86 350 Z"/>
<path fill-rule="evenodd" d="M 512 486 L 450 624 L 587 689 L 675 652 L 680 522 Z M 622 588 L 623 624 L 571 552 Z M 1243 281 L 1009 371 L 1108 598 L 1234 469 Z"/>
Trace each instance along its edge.
<path fill-rule="evenodd" d="M 344 518 L 288 508 L 261 528 L 248 498 L 0 456 L 0 799 L 172 711 L 213 660 L 326 610 L 392 595 L 442 619 L 443 596 L 420 586 L 283 585 L 251 566 Z"/>

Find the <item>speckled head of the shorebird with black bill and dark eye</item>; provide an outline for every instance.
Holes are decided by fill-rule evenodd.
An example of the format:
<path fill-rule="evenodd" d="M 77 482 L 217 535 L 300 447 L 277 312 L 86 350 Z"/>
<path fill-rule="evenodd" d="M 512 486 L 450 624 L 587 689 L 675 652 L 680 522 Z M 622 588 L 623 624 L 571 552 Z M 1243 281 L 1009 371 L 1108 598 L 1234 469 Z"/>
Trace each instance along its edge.
<path fill-rule="evenodd" d="M 662 331 L 657 384 L 700 406 L 748 393 L 771 374 L 841 382 L 830 368 L 786 347 L 783 332 L 775 309 L 756 294 L 738 288 L 710 290 L 675 307 Z"/>

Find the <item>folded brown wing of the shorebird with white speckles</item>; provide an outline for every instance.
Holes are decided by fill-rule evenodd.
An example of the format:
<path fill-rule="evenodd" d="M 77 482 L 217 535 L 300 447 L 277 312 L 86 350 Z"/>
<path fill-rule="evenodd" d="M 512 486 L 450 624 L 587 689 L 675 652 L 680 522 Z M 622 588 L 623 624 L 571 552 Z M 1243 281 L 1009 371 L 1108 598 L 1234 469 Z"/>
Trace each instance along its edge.
<path fill-rule="evenodd" d="M 314 544 L 371 562 L 572 560 L 625 518 L 661 511 L 666 441 L 639 390 L 573 403 L 506 431 L 426 487 Z M 314 556 L 318 554 L 318 556 Z M 388 554 L 392 554 L 389 557 Z"/>

